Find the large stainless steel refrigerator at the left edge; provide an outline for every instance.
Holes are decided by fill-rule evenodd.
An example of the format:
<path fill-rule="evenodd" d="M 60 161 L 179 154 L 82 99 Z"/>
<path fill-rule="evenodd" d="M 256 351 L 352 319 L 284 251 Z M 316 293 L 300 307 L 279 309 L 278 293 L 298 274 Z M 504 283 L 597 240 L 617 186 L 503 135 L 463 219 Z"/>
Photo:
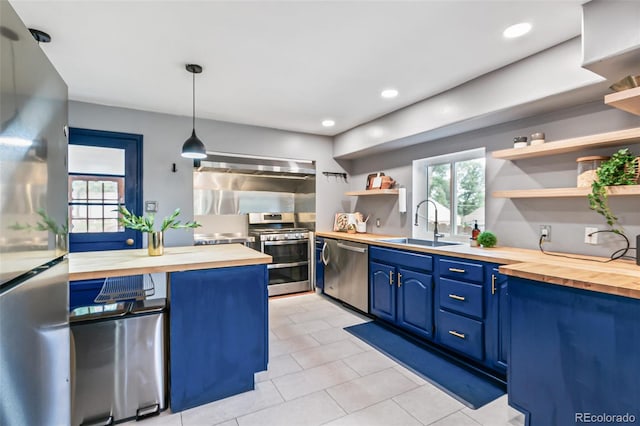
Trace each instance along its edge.
<path fill-rule="evenodd" d="M 6 0 L 0 89 L 0 425 L 68 425 L 68 90 Z"/>

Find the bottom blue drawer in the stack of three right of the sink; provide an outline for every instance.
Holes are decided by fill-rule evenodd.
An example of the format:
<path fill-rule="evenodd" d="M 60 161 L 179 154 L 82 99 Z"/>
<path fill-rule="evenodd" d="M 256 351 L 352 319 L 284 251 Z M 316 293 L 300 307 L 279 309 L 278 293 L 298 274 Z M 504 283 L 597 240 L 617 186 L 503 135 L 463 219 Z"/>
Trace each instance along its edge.
<path fill-rule="evenodd" d="M 438 312 L 437 341 L 445 346 L 482 360 L 482 323 L 440 309 Z"/>

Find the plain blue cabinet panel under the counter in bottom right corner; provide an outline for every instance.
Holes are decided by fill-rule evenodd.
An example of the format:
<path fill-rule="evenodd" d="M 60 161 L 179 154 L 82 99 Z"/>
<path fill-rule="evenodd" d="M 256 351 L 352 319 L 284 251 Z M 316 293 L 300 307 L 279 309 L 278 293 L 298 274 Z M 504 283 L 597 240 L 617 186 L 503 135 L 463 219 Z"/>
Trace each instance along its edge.
<path fill-rule="evenodd" d="M 509 300 L 509 404 L 528 425 L 640 420 L 640 300 L 514 277 Z"/>

